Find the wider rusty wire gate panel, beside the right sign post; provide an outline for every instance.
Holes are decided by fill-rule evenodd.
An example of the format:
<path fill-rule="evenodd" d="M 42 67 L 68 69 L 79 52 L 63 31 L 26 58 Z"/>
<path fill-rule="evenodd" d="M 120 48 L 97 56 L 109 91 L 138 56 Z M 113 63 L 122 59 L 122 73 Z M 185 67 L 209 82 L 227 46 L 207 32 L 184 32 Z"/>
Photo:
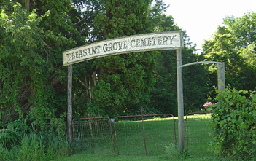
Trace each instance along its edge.
<path fill-rule="evenodd" d="M 163 154 L 166 144 L 176 144 L 174 116 L 149 114 L 115 117 L 115 138 L 117 154 Z"/>

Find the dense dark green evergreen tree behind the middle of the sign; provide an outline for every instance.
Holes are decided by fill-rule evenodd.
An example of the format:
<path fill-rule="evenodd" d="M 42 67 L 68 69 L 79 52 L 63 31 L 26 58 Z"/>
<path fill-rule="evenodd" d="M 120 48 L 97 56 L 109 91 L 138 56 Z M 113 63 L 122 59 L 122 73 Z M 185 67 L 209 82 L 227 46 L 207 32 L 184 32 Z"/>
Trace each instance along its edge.
<path fill-rule="evenodd" d="M 94 22 L 103 31 L 104 39 L 147 33 L 151 2 L 101 1 L 106 10 Z M 142 52 L 93 60 L 97 81 L 88 106 L 104 109 L 113 117 L 123 111 L 136 111 L 136 106 L 147 103 L 155 81 L 152 76 L 155 57 L 155 52 Z"/>

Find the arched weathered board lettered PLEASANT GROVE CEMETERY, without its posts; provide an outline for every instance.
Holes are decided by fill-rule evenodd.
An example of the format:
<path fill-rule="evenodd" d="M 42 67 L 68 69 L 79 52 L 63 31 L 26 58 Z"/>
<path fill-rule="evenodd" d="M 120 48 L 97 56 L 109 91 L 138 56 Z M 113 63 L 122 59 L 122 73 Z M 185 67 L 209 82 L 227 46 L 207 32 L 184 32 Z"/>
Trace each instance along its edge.
<path fill-rule="evenodd" d="M 150 50 L 179 50 L 182 47 L 182 31 L 107 39 L 63 52 L 63 66 L 109 55 Z"/>

